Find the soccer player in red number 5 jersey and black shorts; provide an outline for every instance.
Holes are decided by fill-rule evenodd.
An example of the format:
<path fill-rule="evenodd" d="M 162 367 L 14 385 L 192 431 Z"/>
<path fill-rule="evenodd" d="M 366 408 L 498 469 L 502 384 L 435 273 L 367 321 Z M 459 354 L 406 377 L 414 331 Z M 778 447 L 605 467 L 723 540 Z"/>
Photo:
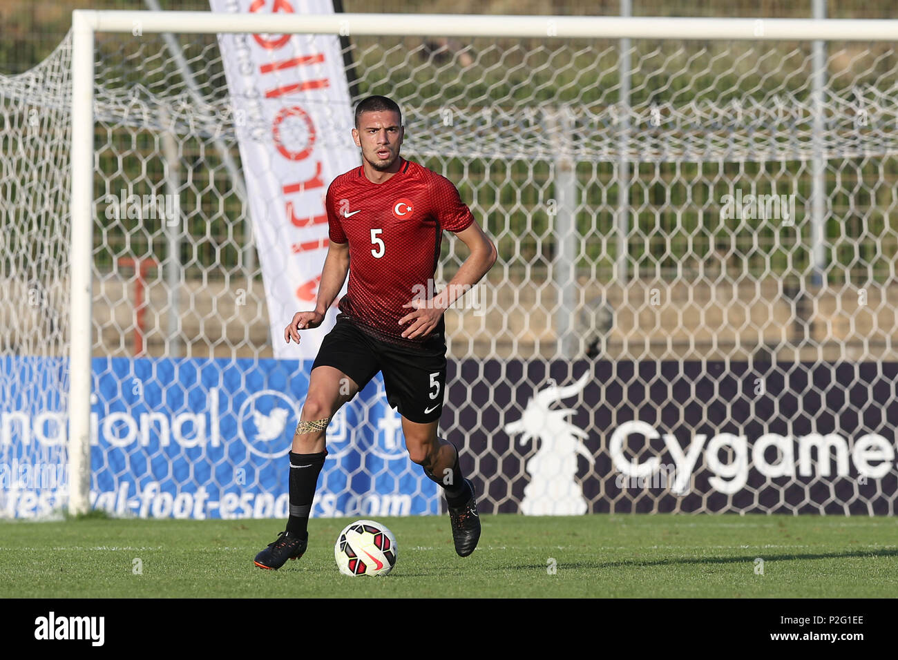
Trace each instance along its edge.
<path fill-rule="evenodd" d="M 312 312 L 296 312 L 284 330 L 317 328 L 349 273 L 334 328 L 312 365 L 309 392 L 290 453 L 290 517 L 277 541 L 256 555 L 260 568 L 280 568 L 303 555 L 318 475 L 327 455 L 325 429 L 339 407 L 377 372 L 387 400 L 402 417 L 413 462 L 444 488 L 455 551 L 467 557 L 480 539 L 474 487 L 459 468 L 458 450 L 439 437 L 445 396 L 443 312 L 480 281 L 496 261 L 496 246 L 474 221 L 445 177 L 400 156 L 405 129 L 396 103 L 369 96 L 356 108 L 352 131 L 362 166 L 341 174 L 325 206 L 330 246 Z M 429 300 L 444 230 L 471 253 L 445 289 Z M 429 286 L 428 286 L 429 283 Z"/>

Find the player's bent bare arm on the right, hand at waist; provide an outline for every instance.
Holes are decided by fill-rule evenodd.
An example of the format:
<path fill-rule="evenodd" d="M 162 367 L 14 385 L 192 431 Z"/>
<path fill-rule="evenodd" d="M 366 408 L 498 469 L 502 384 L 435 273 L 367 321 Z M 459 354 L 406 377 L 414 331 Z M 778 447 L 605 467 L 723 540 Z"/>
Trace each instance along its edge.
<path fill-rule="evenodd" d="M 480 282 L 489 268 L 496 263 L 498 255 L 496 245 L 486 233 L 483 233 L 480 224 L 477 224 L 476 221 L 462 229 L 461 232 L 456 232 L 455 235 L 468 246 L 470 251 L 468 258 L 464 260 L 452 281 L 439 294 L 429 301 L 413 300 L 409 304 L 402 305 L 416 308 L 414 312 L 406 314 L 399 321 L 400 325 L 414 321 L 402 331 L 402 337 L 407 339 L 427 337 L 436 328 L 443 312 Z"/>

